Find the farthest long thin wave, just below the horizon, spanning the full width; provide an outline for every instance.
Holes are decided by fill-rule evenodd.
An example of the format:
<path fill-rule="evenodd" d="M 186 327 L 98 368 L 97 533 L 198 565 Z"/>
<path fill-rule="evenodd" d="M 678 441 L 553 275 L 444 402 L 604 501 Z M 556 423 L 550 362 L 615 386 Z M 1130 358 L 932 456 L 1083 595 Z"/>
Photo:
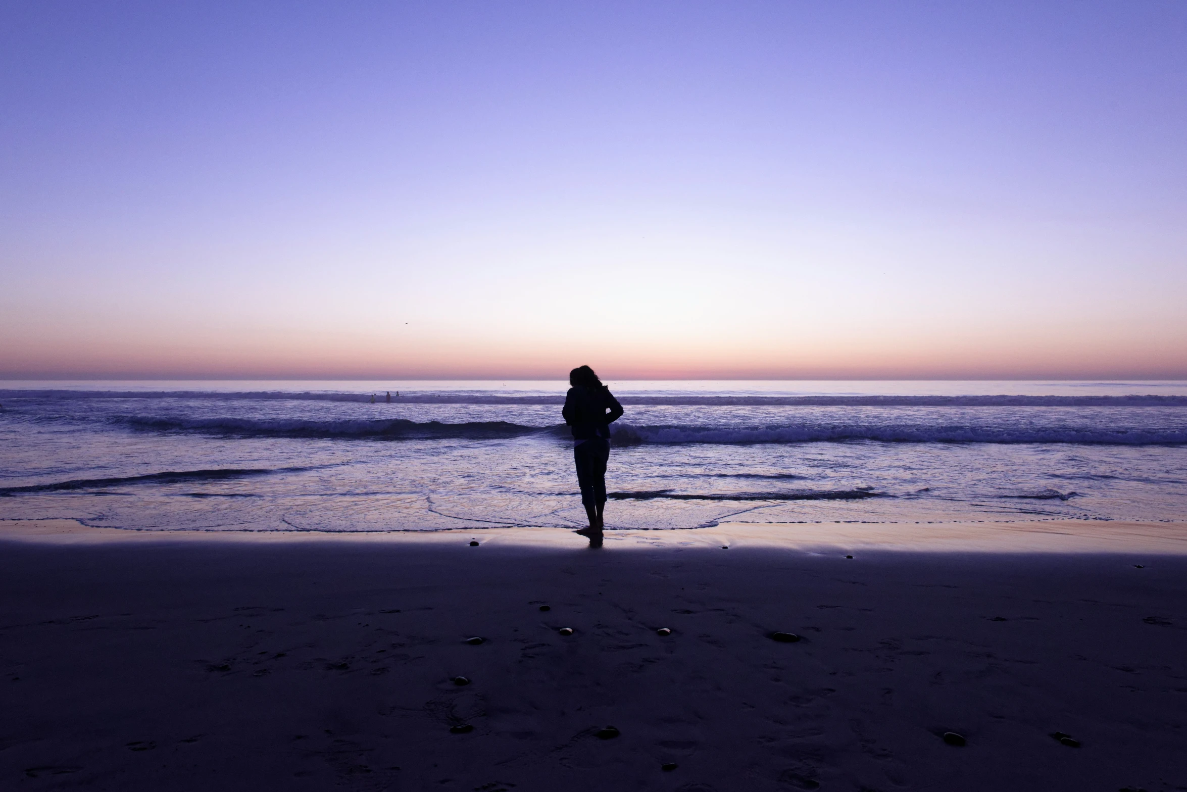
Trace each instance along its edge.
<path fill-rule="evenodd" d="M 296 400 L 369 403 L 370 393 L 323 391 L 68 391 L 0 389 L 0 400 L 87 400 L 87 399 L 202 399 L 202 400 Z M 383 401 L 383 394 L 374 394 Z M 405 393 L 392 404 L 474 404 L 474 405 L 560 405 L 557 394 L 502 395 L 489 392 L 444 391 Z M 787 406 L 787 407 L 1187 407 L 1187 395 L 620 395 L 623 405 L 635 406 Z"/>

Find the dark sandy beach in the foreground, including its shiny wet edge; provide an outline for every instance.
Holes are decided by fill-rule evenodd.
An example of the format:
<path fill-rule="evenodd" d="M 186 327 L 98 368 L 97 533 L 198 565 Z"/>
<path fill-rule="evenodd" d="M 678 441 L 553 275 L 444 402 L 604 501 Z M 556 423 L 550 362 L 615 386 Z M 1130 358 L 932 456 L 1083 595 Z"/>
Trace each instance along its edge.
<path fill-rule="evenodd" d="M 0 522 L 0 788 L 1187 790 L 1185 527 Z"/>

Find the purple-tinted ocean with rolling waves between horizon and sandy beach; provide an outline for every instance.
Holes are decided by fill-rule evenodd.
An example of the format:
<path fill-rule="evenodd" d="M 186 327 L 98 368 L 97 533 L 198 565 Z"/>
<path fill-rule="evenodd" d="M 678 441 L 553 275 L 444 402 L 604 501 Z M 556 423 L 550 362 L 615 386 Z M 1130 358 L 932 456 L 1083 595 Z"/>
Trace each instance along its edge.
<path fill-rule="evenodd" d="M 561 381 L 2 385 L 0 519 L 585 522 Z M 607 528 L 1187 518 L 1187 382 L 608 385 Z"/>

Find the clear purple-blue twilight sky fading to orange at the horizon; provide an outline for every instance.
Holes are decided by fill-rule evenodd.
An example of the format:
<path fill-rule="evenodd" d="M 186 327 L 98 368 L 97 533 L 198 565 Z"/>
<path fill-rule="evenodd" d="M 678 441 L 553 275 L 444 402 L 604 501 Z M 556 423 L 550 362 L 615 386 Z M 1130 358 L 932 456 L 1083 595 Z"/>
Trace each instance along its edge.
<path fill-rule="evenodd" d="M 1187 379 L 1187 4 L 0 5 L 0 378 Z"/>

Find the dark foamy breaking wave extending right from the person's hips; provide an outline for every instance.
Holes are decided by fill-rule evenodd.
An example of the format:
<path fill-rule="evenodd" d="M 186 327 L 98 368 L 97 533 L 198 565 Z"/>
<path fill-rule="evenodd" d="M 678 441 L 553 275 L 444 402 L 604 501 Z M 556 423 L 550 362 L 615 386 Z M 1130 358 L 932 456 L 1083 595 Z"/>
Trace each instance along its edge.
<path fill-rule="evenodd" d="M 614 424 L 617 445 L 678 443 L 1074 443 L 1087 445 L 1187 444 L 1187 429 L 1007 429 L 996 426 L 631 426 Z"/>

